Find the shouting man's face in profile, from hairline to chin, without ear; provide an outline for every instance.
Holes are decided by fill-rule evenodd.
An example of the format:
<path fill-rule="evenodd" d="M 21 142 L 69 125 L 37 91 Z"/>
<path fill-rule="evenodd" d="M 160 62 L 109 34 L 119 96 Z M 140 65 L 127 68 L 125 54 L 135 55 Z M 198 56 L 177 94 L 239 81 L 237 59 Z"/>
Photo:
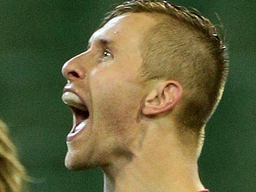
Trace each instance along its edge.
<path fill-rule="evenodd" d="M 145 95 L 137 74 L 142 63 L 139 47 L 153 23 L 141 13 L 113 18 L 91 36 L 86 52 L 63 65 L 68 80 L 63 100 L 89 110 L 72 107 L 67 168 L 106 166 L 136 144 Z"/>

